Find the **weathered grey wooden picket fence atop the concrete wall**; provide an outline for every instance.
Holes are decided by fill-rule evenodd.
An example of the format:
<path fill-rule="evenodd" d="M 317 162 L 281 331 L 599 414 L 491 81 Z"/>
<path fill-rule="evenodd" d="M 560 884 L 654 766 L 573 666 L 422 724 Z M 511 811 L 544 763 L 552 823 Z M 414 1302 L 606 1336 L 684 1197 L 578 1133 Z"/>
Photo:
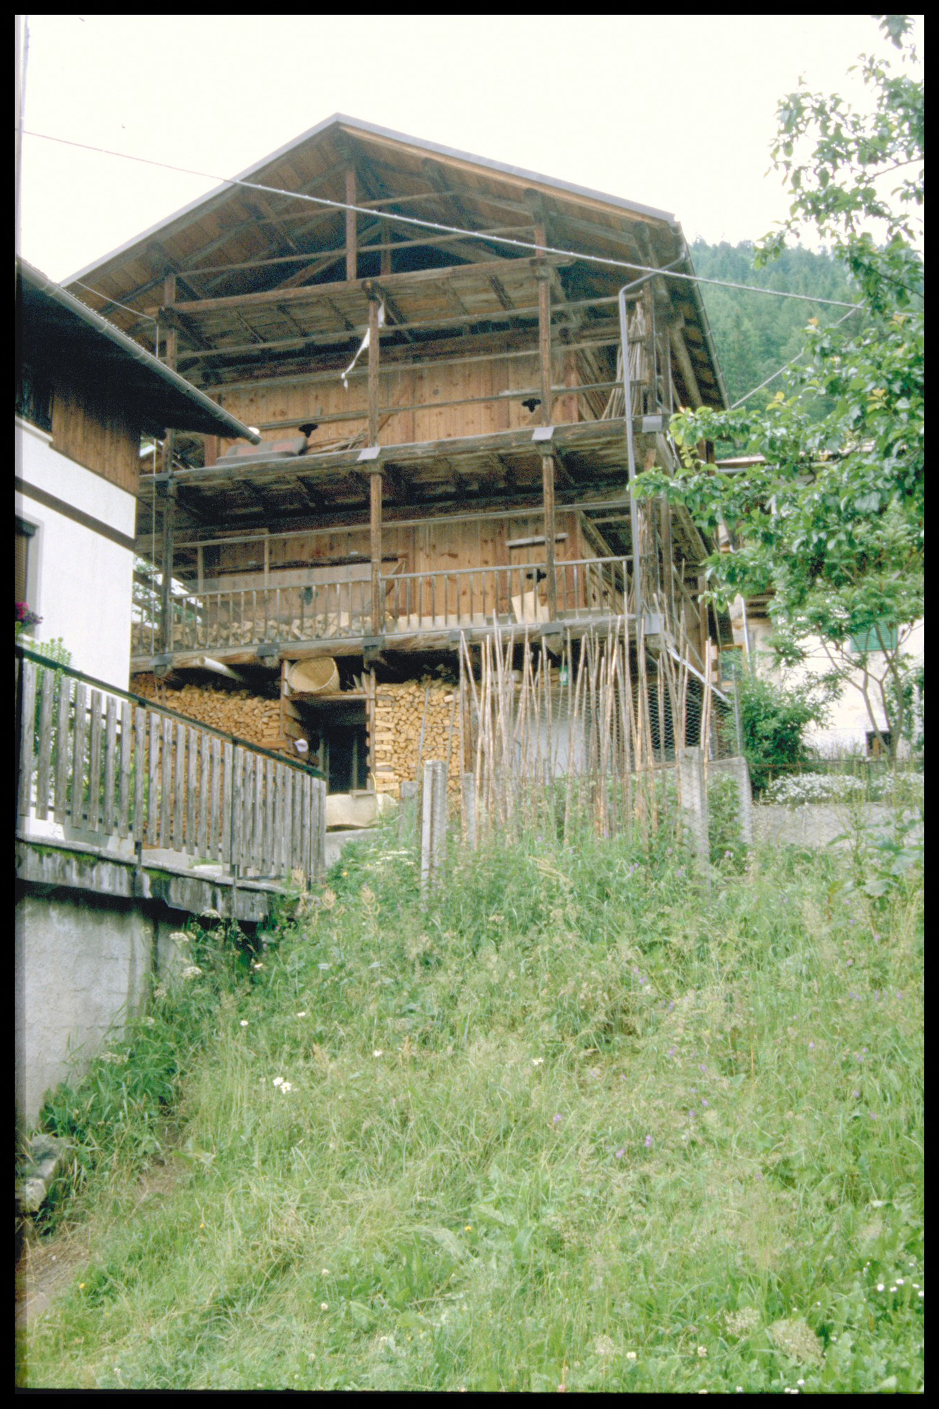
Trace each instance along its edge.
<path fill-rule="evenodd" d="M 326 871 L 326 783 L 140 696 L 17 648 L 17 830 L 55 821 L 235 876 Z"/>

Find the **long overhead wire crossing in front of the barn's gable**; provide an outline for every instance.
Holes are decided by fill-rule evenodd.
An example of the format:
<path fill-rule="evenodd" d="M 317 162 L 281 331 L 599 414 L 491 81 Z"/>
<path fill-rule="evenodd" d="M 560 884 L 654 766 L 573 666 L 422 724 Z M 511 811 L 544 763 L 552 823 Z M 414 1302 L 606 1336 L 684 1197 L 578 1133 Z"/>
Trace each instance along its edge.
<path fill-rule="evenodd" d="M 131 156 L 128 152 L 114 152 L 106 147 L 92 147 L 87 142 L 75 142 L 68 137 L 51 137 L 48 132 L 25 131 L 25 137 L 38 137 L 47 142 L 59 142 L 63 147 L 78 147 L 86 152 L 97 152 L 102 156 L 118 156 L 127 162 L 140 162 L 145 166 L 158 166 L 161 170 L 176 172 L 180 176 L 199 176 L 202 180 L 214 180 L 223 186 L 244 186 L 248 190 L 259 190 L 266 196 L 282 196 L 288 200 L 305 200 L 313 206 L 323 206 L 329 210 L 351 210 L 360 216 L 374 216 L 375 211 L 367 206 L 355 206 L 343 200 L 327 200 L 326 196 L 307 196 L 299 190 L 282 190 L 279 186 L 264 186 L 259 182 L 244 180 L 240 176 L 216 176 L 211 172 L 195 170 L 189 166 L 173 166 L 171 162 L 158 162 L 149 156 Z M 512 245 L 517 249 L 532 249 L 534 254 L 563 255 L 565 258 L 581 259 L 587 263 L 605 265 L 610 269 L 627 269 L 630 273 L 661 275 L 664 279 L 681 279 L 688 283 L 708 283 L 719 289 L 742 289 L 746 293 L 763 293 L 774 299 L 798 299 L 802 303 L 828 304 L 835 309 L 849 309 L 853 311 L 859 303 L 847 303 L 843 299 L 821 299 L 809 293 L 787 293 L 782 289 L 760 289 L 753 283 L 732 283 L 728 279 L 705 279 L 699 275 L 680 273 L 678 271 L 663 271 L 654 265 L 632 263 L 626 259 L 610 259 L 606 255 L 588 255 L 581 249 L 564 249 L 557 245 L 537 245 L 529 240 L 513 240 L 508 235 L 486 235 L 478 230 L 464 230 L 460 225 L 444 225 L 436 220 L 420 220 L 417 216 L 399 216 L 392 211 L 382 211 L 382 220 L 396 221 L 405 225 L 417 225 L 422 230 L 436 230 L 448 235 L 462 235 L 467 240 L 481 240 L 486 244 Z"/>

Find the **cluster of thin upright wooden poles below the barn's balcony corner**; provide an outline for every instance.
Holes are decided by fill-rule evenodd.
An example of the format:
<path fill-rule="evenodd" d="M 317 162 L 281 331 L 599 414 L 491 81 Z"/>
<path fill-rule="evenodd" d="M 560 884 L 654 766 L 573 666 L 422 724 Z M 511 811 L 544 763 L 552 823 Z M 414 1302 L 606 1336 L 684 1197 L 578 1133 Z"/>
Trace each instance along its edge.
<path fill-rule="evenodd" d="M 739 720 L 709 661 L 702 675 L 688 654 L 667 631 L 637 645 L 625 617 L 557 651 L 527 633 L 493 635 L 474 661 L 464 640 L 475 831 L 640 827 L 682 840 L 691 827 L 706 855 L 708 766 L 739 754 Z"/>

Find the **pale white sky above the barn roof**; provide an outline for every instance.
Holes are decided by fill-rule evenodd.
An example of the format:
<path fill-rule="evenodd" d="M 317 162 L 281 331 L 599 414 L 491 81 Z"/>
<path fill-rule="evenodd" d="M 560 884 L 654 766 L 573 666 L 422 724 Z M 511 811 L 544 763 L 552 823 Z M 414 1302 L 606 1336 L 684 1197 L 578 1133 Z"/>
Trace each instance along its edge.
<path fill-rule="evenodd" d="M 345 113 L 736 244 L 785 214 L 778 99 L 867 106 L 869 52 L 867 15 L 31 15 L 24 127 L 233 176 Z M 66 279 L 214 185 L 25 135 L 21 251 Z"/>

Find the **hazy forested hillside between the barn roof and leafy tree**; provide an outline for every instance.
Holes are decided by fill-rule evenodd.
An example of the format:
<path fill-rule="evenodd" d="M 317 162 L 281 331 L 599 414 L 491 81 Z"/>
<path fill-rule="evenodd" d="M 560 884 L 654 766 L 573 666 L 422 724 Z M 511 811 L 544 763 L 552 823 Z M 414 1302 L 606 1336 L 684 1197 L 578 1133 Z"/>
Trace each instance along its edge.
<path fill-rule="evenodd" d="M 843 299 L 846 303 L 859 297 L 845 268 L 823 252 L 785 249 L 773 263 L 754 269 L 753 244 L 749 240 L 739 245 L 729 245 L 726 241 L 709 245 L 704 240 L 695 240 L 691 258 L 702 279 L 729 279 L 757 285 L 760 289 Z M 773 299 L 713 285 L 701 285 L 701 294 L 732 404 L 797 355 L 804 345 L 802 333 L 809 318 L 816 317 L 822 327 L 828 327 L 846 311 L 823 303 Z M 860 327 L 861 314 L 852 317 L 857 318 Z M 771 383 L 764 392 L 759 392 L 751 399 L 754 406 L 766 403 L 778 386 L 778 382 Z"/>

